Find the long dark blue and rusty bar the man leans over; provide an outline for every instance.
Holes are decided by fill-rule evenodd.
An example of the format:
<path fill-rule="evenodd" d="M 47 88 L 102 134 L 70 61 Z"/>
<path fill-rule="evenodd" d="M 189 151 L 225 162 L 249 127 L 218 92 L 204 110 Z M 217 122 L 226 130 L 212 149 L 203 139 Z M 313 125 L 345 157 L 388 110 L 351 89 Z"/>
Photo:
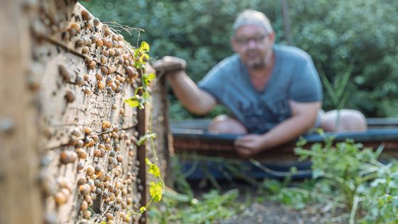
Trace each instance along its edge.
<path fill-rule="evenodd" d="M 380 122 L 379 122 L 380 124 Z M 202 124 L 200 124 L 202 125 Z M 173 146 L 176 154 L 200 154 L 205 156 L 221 156 L 224 158 L 240 159 L 235 153 L 233 142 L 238 137 L 235 134 L 210 134 L 205 129 L 195 129 L 195 121 L 188 121 L 189 128 L 181 122 L 173 127 Z M 345 139 L 353 139 L 362 143 L 365 147 L 377 148 L 385 143 L 384 154 L 393 157 L 398 155 L 398 129 L 369 129 L 366 132 L 342 132 L 319 134 L 306 134 L 306 147 L 317 142 L 324 142 L 325 137 L 334 137 L 334 142 L 344 142 Z M 265 161 L 286 161 L 298 159 L 294 155 L 296 141 L 289 142 L 274 149 L 264 151 L 255 156 L 256 159 Z M 398 158 L 398 157 L 397 157 Z"/>

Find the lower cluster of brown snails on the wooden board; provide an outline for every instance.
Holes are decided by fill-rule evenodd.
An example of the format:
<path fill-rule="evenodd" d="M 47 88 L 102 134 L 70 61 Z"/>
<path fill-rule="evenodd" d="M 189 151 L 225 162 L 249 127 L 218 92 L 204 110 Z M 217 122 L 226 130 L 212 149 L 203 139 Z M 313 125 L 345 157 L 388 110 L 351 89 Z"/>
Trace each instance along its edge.
<path fill-rule="evenodd" d="M 95 134 L 90 127 L 72 128 L 70 129 L 69 146 L 74 146 L 75 151 L 64 150 L 60 153 L 60 162 L 62 164 L 71 164 L 77 162 L 77 171 L 83 171 L 85 177 L 79 178 L 77 186 L 81 195 L 80 211 L 82 218 L 88 220 L 92 217 L 92 212 L 87 208 L 92 206 L 94 201 L 100 197 L 102 203 L 112 204 L 114 213 L 106 215 L 108 223 L 112 223 L 113 215 L 117 214 L 125 222 L 130 222 L 131 218 L 138 220 L 138 216 L 126 215 L 122 210 L 127 206 L 132 205 L 134 209 L 138 209 L 139 196 L 131 198 L 131 191 L 134 183 L 139 183 L 137 179 L 138 161 L 134 164 L 136 136 L 138 132 L 134 132 L 132 136 L 125 130 L 119 127 L 112 127 L 111 122 L 102 122 L 102 133 Z M 121 142 L 124 141 L 129 159 L 125 160 L 124 156 L 120 154 Z M 133 143 L 133 144 L 132 144 Z M 94 148 L 92 155 L 87 154 L 85 149 Z M 89 152 L 90 153 L 90 152 Z M 101 159 L 107 156 L 107 166 L 104 169 L 102 166 L 88 165 L 85 166 L 85 161 L 88 157 Z M 98 160 L 97 160 L 98 161 Z M 127 166 L 133 172 L 124 172 L 121 165 L 128 161 Z M 70 196 L 70 186 L 65 183 L 60 183 L 60 190 L 54 195 L 58 206 L 63 205 L 68 201 Z M 142 188 L 142 186 L 141 186 Z M 135 201 L 135 203 L 133 203 Z"/>

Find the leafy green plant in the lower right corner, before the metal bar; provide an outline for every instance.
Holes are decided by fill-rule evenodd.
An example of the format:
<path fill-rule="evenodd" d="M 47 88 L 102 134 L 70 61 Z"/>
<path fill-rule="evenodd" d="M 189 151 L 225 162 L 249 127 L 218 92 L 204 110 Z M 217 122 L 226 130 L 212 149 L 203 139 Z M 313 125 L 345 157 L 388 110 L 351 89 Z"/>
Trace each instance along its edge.
<path fill-rule="evenodd" d="M 326 139 L 325 144 L 313 144 L 311 149 L 299 146 L 295 151 L 302 159 L 311 159 L 314 178 L 328 179 L 321 182 L 323 188 L 333 188 L 340 195 L 335 203 L 349 211 L 350 223 L 357 219 L 359 223 L 397 223 L 398 163 L 380 163 L 382 148 L 363 149 L 351 140 L 333 146 L 333 139 Z"/>

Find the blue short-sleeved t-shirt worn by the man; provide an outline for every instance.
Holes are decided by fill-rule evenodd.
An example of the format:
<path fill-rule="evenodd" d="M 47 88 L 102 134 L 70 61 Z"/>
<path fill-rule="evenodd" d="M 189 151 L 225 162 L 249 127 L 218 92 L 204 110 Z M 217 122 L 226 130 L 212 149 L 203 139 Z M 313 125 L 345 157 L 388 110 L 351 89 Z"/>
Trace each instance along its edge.
<path fill-rule="evenodd" d="M 275 65 L 262 91 L 254 89 L 247 68 L 235 54 L 218 63 L 198 83 L 225 105 L 250 133 L 268 132 L 291 117 L 289 100 L 322 100 L 321 80 L 310 55 L 291 46 L 274 46 Z"/>

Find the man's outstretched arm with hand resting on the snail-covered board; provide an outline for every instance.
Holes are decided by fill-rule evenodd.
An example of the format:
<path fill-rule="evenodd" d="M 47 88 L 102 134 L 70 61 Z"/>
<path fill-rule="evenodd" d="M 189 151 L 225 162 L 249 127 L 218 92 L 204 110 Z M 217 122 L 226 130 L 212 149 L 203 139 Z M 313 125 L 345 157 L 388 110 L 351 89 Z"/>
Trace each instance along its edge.
<path fill-rule="evenodd" d="M 180 65 L 179 67 L 182 70 L 173 70 L 166 73 L 174 94 L 190 112 L 195 114 L 210 112 L 217 105 L 217 100 L 208 92 L 200 90 L 198 85 L 189 78 L 183 70 L 185 64 L 185 60 L 181 58 L 166 56 L 156 62 L 155 67 L 176 67 L 174 65 Z"/>

